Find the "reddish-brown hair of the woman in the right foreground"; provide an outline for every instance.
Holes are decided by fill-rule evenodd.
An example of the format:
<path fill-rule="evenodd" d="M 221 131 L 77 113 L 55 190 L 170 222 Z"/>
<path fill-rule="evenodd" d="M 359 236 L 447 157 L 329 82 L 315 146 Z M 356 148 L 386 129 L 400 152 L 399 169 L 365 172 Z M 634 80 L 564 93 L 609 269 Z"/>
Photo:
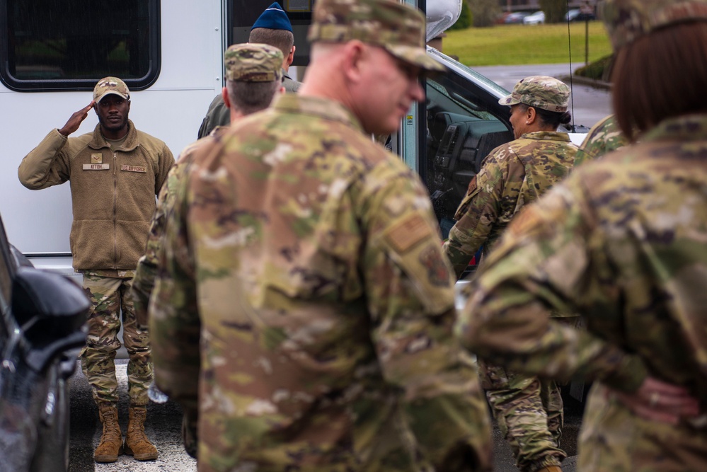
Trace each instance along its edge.
<path fill-rule="evenodd" d="M 632 139 L 636 129 L 707 111 L 707 21 L 660 28 L 621 47 L 611 80 L 616 120 Z"/>

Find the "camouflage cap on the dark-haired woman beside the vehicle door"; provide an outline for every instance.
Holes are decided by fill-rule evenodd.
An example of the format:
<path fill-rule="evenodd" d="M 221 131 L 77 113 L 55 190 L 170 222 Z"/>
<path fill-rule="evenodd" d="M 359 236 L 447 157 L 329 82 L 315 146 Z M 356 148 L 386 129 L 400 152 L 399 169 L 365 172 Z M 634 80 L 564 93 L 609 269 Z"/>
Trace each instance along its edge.
<path fill-rule="evenodd" d="M 498 103 L 509 106 L 524 103 L 534 108 L 564 113 L 570 103 L 570 88 L 554 77 L 529 76 L 520 79 L 511 94 L 498 100 Z"/>

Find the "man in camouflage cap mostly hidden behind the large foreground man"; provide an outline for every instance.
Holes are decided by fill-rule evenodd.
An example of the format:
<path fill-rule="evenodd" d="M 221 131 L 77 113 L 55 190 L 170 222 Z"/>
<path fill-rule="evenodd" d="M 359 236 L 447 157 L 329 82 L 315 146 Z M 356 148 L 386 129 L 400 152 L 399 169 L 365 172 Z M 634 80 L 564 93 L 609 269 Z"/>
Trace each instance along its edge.
<path fill-rule="evenodd" d="M 248 43 L 233 45 L 224 54 L 226 86 L 223 100 L 231 113 L 231 122 L 241 117 L 268 108 L 272 98 L 282 88 L 282 52 L 270 45 Z M 145 255 L 137 263 L 132 284 L 137 323 L 147 326 L 147 308 L 158 270 L 159 251 L 163 245 L 166 213 L 173 207 L 178 183 L 188 171 L 192 156 L 204 146 L 219 140 L 226 127 L 215 128 L 209 136 L 187 146 L 168 174 L 158 199 L 157 209 L 147 240 Z M 187 451 L 196 454 L 196 405 L 184 405 L 184 445 Z"/>

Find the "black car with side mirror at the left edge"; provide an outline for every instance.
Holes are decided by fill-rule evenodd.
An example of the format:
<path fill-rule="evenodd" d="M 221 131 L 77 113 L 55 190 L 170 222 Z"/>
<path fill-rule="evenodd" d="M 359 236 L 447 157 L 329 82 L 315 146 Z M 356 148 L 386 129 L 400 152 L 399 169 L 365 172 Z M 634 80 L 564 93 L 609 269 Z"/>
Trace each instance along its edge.
<path fill-rule="evenodd" d="M 35 269 L 11 246 L 0 219 L 1 470 L 67 471 L 67 379 L 90 306 L 76 283 Z"/>

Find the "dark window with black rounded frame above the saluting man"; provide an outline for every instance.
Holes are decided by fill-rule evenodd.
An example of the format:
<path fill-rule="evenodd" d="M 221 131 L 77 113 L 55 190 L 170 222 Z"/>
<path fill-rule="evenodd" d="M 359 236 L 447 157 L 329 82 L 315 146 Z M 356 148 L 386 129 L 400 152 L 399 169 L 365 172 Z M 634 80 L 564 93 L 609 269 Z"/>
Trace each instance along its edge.
<path fill-rule="evenodd" d="M 0 0 L 0 15 L 0 79 L 13 90 L 92 90 L 105 76 L 141 90 L 159 75 L 158 0 Z"/>

